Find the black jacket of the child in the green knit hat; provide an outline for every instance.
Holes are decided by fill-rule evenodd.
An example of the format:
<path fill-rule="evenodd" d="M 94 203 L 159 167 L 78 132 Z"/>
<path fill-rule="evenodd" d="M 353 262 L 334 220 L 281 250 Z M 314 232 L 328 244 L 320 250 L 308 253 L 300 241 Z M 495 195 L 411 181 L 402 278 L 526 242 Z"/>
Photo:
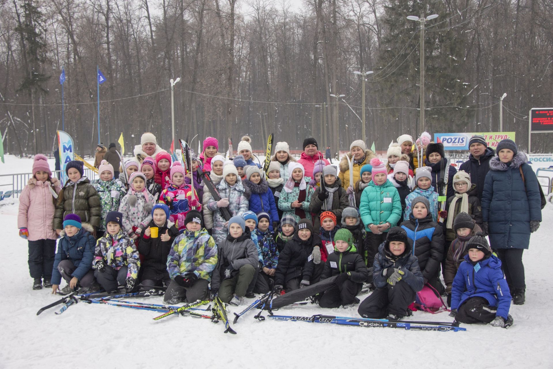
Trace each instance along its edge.
<path fill-rule="evenodd" d="M 334 252 L 328 255 L 326 259 L 321 280 L 341 273 L 349 273 L 349 279 L 357 283 L 363 283 L 369 277 L 365 261 L 359 255 L 355 246 L 350 246 L 344 252 L 340 252 L 335 248 Z"/>

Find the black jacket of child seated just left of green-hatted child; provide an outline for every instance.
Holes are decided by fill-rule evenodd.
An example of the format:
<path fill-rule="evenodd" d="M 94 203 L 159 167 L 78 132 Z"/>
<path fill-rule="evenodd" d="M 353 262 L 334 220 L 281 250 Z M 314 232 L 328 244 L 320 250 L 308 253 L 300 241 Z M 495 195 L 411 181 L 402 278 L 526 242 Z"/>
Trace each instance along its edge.
<path fill-rule="evenodd" d="M 279 254 L 278 265 L 275 272 L 275 285 L 284 285 L 290 279 L 301 278 L 311 280 L 313 275 L 314 263 L 311 256 L 314 246 L 321 246 L 321 238 L 318 235 L 311 235 L 307 241 L 300 240 L 298 233 L 286 242 L 284 250 Z"/>

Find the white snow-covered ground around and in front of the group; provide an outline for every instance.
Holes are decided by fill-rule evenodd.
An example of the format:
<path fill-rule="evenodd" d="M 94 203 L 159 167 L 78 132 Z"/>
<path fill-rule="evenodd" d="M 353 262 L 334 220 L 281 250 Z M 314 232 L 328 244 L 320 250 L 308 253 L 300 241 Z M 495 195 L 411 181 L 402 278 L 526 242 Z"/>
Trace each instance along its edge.
<path fill-rule="evenodd" d="M 30 170 L 30 160 L 19 160 L 10 164 L 17 169 L 11 173 Z M 10 173 L 2 164 L 0 169 L 2 174 Z M 222 323 L 207 319 L 170 316 L 154 321 L 152 318 L 159 315 L 155 311 L 85 303 L 71 306 L 61 315 L 54 314 L 58 306 L 36 316 L 39 308 L 59 296 L 31 288 L 27 241 L 18 236 L 17 211 L 17 199 L 0 202 L 0 224 L 6 237 L 0 268 L 2 368 L 553 367 L 548 318 L 553 306 L 553 269 L 548 262 L 553 258 L 550 203 L 543 211 L 540 229 L 531 237 L 530 249 L 524 253 L 526 303 L 511 306 L 514 325 L 510 329 L 463 325 L 465 332 L 270 319 L 260 322 L 253 319 L 256 310 L 233 326 L 237 335 L 230 335 L 223 334 Z M 162 298 L 140 300 L 161 303 Z M 230 315 L 243 308 L 231 307 Z M 358 316 L 357 308 L 321 309 L 314 305 L 283 308 L 278 314 Z M 447 314 L 419 311 L 408 319 L 451 321 Z"/>

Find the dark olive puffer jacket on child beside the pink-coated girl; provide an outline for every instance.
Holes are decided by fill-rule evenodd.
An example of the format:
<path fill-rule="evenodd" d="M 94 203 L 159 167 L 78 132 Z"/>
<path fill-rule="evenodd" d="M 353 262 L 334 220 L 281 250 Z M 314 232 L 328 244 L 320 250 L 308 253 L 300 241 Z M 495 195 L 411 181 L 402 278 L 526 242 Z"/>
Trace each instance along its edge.
<path fill-rule="evenodd" d="M 67 214 L 77 214 L 82 222 L 90 223 L 94 228 L 100 225 L 102 204 L 100 196 L 90 180 L 81 177 L 77 183 L 68 183 L 61 189 L 54 212 L 54 229 L 62 229 Z"/>

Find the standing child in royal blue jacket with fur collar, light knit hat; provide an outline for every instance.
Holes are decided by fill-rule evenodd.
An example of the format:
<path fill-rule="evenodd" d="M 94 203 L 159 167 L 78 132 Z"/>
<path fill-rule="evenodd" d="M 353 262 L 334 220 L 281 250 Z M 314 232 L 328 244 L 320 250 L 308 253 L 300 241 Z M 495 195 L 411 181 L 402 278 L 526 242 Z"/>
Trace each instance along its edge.
<path fill-rule="evenodd" d="M 255 214 L 261 211 L 267 212 L 269 214 L 269 230 L 273 232 L 278 227 L 278 207 L 273 191 L 269 188 L 267 180 L 263 178 L 261 170 L 255 165 L 250 165 L 242 184 L 252 193 L 249 198 L 249 210 Z"/>

